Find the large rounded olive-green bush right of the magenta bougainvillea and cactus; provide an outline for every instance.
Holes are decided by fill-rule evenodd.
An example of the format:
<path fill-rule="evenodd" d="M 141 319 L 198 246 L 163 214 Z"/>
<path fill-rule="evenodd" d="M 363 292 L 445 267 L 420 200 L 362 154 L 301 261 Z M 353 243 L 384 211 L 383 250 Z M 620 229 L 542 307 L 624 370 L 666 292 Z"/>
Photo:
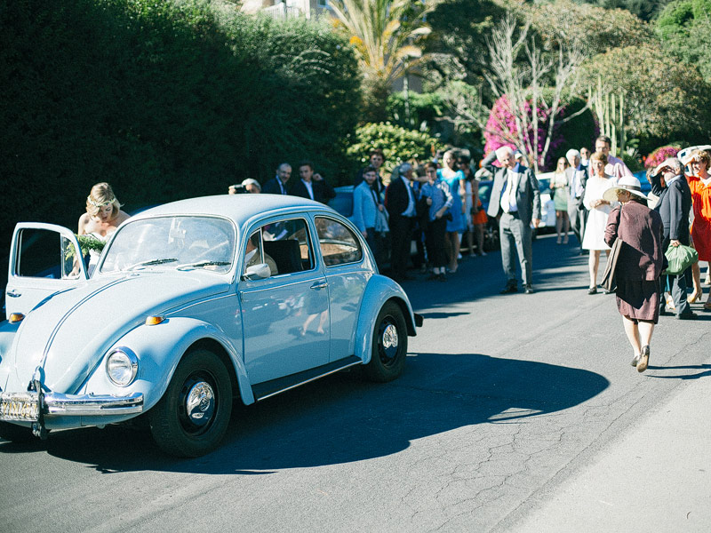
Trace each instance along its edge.
<path fill-rule="evenodd" d="M 628 46 L 599 54 L 584 65 L 582 87 L 597 84 L 622 92 L 626 124 L 642 139 L 640 151 L 659 139 L 703 143 L 709 136 L 711 88 L 696 68 L 679 63 L 658 46 Z M 646 139 L 646 141 L 645 141 Z"/>

